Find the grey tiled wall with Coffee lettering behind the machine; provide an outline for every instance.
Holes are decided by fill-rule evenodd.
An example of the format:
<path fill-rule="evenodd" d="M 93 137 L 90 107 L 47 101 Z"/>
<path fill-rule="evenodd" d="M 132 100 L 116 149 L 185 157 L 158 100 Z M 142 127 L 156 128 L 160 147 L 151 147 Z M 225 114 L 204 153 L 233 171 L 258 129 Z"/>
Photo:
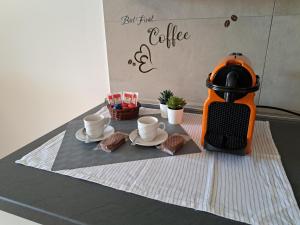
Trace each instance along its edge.
<path fill-rule="evenodd" d="M 201 106 L 207 74 L 222 57 L 242 52 L 262 77 L 256 102 L 300 111 L 298 0 L 104 0 L 104 15 L 112 91 L 138 91 L 155 102 L 161 90 L 172 89 Z M 149 41 L 152 28 L 167 35 L 170 23 L 182 32 L 175 46 L 156 44 L 154 32 Z"/>

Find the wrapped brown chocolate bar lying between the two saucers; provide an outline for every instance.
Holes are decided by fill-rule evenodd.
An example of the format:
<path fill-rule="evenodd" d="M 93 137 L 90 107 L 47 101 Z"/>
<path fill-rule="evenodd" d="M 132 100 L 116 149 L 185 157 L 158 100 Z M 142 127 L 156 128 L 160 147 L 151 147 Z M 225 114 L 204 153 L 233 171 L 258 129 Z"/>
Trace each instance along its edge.
<path fill-rule="evenodd" d="M 98 149 L 113 152 L 128 140 L 128 134 L 116 132 L 98 144 Z"/>

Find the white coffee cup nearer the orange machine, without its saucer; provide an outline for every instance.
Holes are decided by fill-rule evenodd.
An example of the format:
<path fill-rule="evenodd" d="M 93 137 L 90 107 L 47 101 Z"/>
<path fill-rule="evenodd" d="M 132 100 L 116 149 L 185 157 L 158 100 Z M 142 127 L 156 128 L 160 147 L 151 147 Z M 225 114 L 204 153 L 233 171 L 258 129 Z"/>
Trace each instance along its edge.
<path fill-rule="evenodd" d="M 166 125 L 163 122 L 158 122 L 158 119 L 153 116 L 143 116 L 137 120 L 139 136 L 144 141 L 152 141 L 157 136 L 158 128 L 165 129 Z"/>

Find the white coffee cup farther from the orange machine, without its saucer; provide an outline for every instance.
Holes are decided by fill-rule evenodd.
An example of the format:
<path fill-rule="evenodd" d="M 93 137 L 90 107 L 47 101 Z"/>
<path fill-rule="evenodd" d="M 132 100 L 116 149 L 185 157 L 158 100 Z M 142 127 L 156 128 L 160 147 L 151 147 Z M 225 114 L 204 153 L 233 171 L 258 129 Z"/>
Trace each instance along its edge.
<path fill-rule="evenodd" d="M 110 124 L 111 119 L 103 115 L 91 114 L 83 118 L 86 134 L 90 138 L 98 138 L 103 135 L 104 129 Z"/>

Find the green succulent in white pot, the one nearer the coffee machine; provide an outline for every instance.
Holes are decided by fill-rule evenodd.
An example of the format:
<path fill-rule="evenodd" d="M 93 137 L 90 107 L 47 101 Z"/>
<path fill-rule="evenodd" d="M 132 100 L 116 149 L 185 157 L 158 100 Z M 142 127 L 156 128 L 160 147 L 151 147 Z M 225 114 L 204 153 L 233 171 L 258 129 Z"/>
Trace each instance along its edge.
<path fill-rule="evenodd" d="M 171 96 L 167 102 L 168 105 L 168 121 L 170 124 L 180 124 L 183 119 L 183 108 L 186 101 L 177 96 Z"/>

